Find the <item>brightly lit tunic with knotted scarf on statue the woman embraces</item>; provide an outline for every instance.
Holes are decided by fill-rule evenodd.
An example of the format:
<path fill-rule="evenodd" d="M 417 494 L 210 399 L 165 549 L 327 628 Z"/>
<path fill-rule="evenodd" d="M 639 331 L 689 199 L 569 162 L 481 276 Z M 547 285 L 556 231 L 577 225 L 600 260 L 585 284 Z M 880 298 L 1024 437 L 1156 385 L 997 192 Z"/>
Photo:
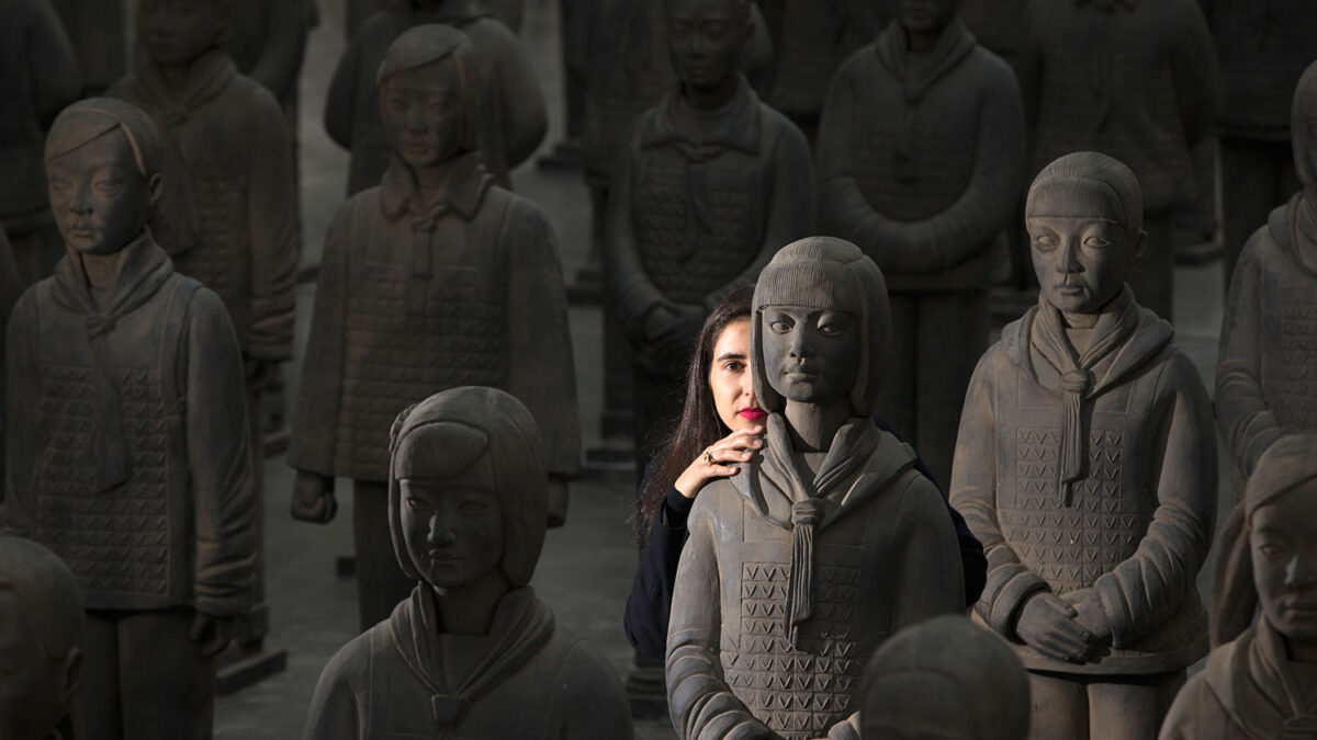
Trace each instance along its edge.
<path fill-rule="evenodd" d="M 826 736 L 859 711 L 878 644 L 964 608 L 951 520 L 909 446 L 852 419 L 806 482 L 781 415 L 766 440 L 764 458 L 706 486 L 687 520 L 668 628 L 669 711 L 685 740 L 734 727 Z"/>

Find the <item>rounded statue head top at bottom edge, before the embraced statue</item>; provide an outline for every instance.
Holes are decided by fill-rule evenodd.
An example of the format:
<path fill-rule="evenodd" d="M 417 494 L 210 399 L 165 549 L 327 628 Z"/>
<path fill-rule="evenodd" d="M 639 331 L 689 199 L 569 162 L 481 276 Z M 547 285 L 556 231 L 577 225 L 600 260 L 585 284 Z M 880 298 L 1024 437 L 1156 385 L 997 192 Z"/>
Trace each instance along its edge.
<path fill-rule="evenodd" d="M 960 615 L 906 627 L 864 669 L 861 740 L 1025 740 L 1029 674 L 992 632 Z"/>

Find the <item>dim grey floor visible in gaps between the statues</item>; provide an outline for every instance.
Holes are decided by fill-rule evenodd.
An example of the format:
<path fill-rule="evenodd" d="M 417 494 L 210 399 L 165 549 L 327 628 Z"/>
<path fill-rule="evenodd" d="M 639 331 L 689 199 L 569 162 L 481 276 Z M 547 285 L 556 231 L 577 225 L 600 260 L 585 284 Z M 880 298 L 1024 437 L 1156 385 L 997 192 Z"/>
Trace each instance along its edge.
<path fill-rule="evenodd" d="M 321 22 L 312 32 L 302 79 L 302 192 L 304 265 L 313 265 L 335 208 L 342 201 L 346 154 L 320 125 L 320 111 L 333 66 L 345 42 L 344 0 L 319 0 Z M 547 151 L 561 138 L 561 62 L 556 0 L 527 0 L 523 38 L 531 45 L 551 104 Z M 540 171 L 525 165 L 514 175 L 522 195 L 536 201 L 553 221 L 569 277 L 583 265 L 589 236 L 589 200 L 572 172 Z M 1210 386 L 1221 324 L 1220 270 L 1216 265 L 1176 274 L 1179 342 Z M 300 348 L 306 342 L 313 286 L 299 290 L 298 354 L 287 369 L 296 391 Z M 572 308 L 573 344 L 586 445 L 597 441 L 601 408 L 602 346 L 598 308 Z M 291 394 L 290 394 L 291 398 Z M 1223 494 L 1229 474 L 1223 469 Z M 288 517 L 292 471 L 283 457 L 266 462 L 266 552 L 270 602 L 269 645 L 288 652 L 288 669 L 255 686 L 216 700 L 217 740 L 290 740 L 302 736 L 316 678 L 329 657 L 356 635 L 356 585 L 335 575 L 337 557 L 352 552 L 352 500 L 340 482 L 337 519 L 313 525 Z M 1227 494 L 1226 494 L 1227 495 Z M 631 649 L 622 631 L 622 611 L 631 587 L 636 552 L 627 519 L 633 490 L 628 485 L 578 483 L 572 489 L 568 525 L 548 535 L 532 586 L 553 607 L 558 624 L 583 635 L 624 675 Z M 1223 508 L 1223 507 L 1222 507 Z M 1206 578 L 1200 578 L 1206 595 Z M 644 740 L 674 737 L 666 720 L 640 722 Z"/>

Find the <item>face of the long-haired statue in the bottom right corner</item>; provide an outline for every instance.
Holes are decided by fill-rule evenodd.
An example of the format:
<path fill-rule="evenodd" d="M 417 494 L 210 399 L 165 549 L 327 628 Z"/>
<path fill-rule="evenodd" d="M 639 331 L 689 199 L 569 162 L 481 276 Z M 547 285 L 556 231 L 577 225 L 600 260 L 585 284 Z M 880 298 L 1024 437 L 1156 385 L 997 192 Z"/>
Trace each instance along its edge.
<path fill-rule="evenodd" d="M 1317 481 L 1263 506 L 1249 521 L 1262 612 L 1291 640 L 1317 644 Z"/>

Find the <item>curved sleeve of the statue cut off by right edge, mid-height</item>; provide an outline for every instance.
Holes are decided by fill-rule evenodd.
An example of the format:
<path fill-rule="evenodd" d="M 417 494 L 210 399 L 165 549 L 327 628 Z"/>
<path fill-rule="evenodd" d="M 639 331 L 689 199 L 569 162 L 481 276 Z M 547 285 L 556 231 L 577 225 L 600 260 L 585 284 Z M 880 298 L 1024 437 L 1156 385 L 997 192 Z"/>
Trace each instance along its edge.
<path fill-rule="evenodd" d="M 1252 474 L 1258 458 L 1283 432 L 1262 390 L 1262 302 L 1267 296 L 1262 291 L 1260 253 L 1268 238 L 1263 228 L 1239 257 L 1217 358 L 1217 425 L 1245 477 Z"/>

